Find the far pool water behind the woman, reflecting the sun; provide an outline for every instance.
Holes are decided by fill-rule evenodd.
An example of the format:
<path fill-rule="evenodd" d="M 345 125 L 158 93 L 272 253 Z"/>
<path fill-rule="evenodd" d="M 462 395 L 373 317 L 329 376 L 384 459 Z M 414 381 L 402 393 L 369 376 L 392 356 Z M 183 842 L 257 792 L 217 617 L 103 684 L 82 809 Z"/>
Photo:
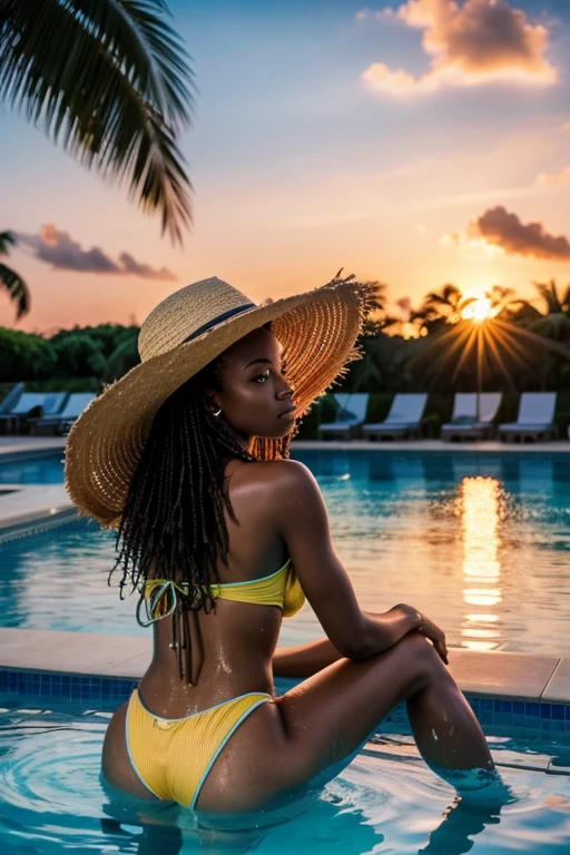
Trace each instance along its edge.
<path fill-rule="evenodd" d="M 317 478 L 363 608 L 411 602 L 451 646 L 570 652 L 570 454 L 295 451 Z M 87 521 L 0 546 L 0 626 L 136 635 L 107 587 L 114 537 Z M 312 611 L 284 643 L 320 633 Z"/>

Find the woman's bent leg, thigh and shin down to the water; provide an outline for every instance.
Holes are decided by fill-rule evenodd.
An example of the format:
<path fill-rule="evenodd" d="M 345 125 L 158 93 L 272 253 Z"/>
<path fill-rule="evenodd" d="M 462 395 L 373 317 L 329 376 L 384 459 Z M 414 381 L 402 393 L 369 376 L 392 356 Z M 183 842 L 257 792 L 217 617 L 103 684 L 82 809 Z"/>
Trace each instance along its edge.
<path fill-rule="evenodd" d="M 250 810 L 346 760 L 405 700 L 426 763 L 493 769 L 479 723 L 433 646 L 411 632 L 380 656 L 340 659 L 276 704 L 264 704 L 232 736 L 212 767 L 199 807 Z"/>

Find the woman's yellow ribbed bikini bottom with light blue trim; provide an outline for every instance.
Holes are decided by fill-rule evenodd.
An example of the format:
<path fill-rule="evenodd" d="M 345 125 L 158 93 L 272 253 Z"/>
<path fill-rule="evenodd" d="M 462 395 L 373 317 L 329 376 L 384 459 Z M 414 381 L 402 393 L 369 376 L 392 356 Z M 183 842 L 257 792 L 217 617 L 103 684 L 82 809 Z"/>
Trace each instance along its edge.
<path fill-rule="evenodd" d="M 160 718 L 137 689 L 129 700 L 126 736 L 131 766 L 153 795 L 195 807 L 206 777 L 242 721 L 271 695 L 250 691 L 186 718 Z"/>

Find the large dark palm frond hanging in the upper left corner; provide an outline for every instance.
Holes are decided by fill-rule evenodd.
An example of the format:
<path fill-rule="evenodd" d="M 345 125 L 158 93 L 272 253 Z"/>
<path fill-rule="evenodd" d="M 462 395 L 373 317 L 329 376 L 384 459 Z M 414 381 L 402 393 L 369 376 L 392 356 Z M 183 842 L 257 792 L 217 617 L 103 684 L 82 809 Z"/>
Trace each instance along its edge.
<path fill-rule="evenodd" d="M 193 75 L 165 0 L 0 0 L 0 100 L 87 167 L 127 184 L 181 243 L 190 183 L 176 135 Z"/>

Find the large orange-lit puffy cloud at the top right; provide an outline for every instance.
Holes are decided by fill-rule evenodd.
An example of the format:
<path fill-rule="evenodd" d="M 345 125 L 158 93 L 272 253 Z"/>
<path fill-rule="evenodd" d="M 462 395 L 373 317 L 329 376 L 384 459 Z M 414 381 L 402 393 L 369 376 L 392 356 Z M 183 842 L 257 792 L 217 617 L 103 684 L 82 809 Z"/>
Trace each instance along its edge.
<path fill-rule="evenodd" d="M 396 18 L 424 30 L 422 47 L 432 59 L 420 76 L 373 62 L 362 79 L 376 91 L 409 96 L 493 81 L 544 86 L 558 80 L 558 69 L 544 58 L 548 29 L 529 23 L 507 0 L 465 0 L 461 6 L 455 0 L 409 0 L 389 9 L 363 10 L 356 17 Z"/>

